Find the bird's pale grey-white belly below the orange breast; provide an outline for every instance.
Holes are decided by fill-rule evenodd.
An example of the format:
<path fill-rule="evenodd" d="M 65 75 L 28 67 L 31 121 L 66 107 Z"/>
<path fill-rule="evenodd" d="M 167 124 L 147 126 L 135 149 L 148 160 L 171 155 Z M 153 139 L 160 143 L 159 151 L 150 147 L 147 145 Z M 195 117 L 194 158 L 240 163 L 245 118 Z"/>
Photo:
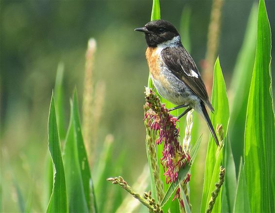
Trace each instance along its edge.
<path fill-rule="evenodd" d="M 158 79 L 152 75 L 154 86 L 158 93 L 174 105 L 189 105 L 192 108 L 200 103 L 200 99 L 170 71 L 162 69 Z"/>

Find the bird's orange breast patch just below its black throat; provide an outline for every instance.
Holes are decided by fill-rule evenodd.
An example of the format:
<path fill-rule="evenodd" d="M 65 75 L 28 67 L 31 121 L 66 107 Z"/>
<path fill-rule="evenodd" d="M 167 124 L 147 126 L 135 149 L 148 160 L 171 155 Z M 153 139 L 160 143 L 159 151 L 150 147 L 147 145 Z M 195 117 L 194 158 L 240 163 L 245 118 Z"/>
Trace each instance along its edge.
<path fill-rule="evenodd" d="M 155 79 L 158 79 L 160 75 L 160 61 L 159 54 L 156 51 L 156 47 L 147 47 L 145 55 L 151 75 Z"/>

